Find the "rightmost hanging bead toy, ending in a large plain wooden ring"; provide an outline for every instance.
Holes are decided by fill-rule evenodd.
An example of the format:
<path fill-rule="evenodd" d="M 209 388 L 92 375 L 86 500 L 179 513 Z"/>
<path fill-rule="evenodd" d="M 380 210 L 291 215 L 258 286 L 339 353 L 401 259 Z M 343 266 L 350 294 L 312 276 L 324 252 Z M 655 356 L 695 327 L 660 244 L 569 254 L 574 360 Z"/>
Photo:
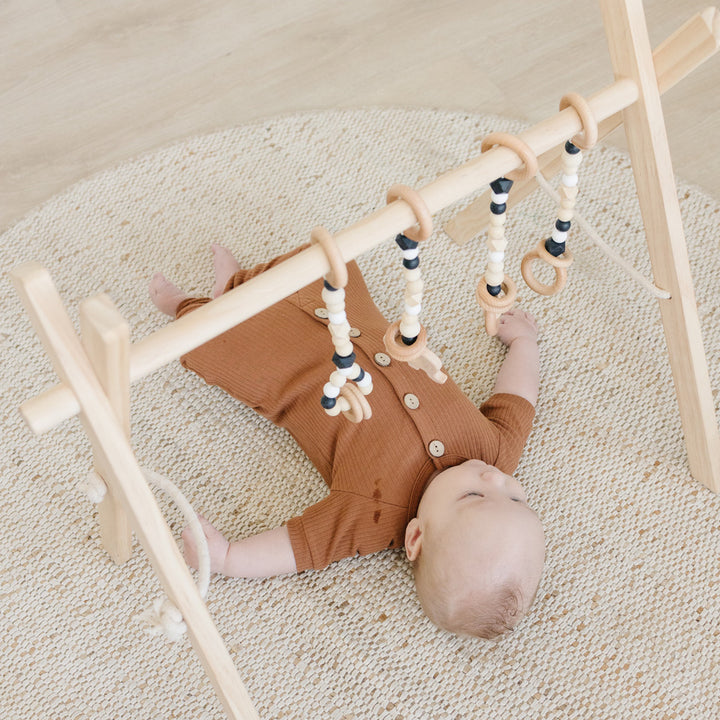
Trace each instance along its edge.
<path fill-rule="evenodd" d="M 572 107 L 580 116 L 583 134 L 568 140 L 562 154 L 562 175 L 560 177 L 560 209 L 552 235 L 541 240 L 532 250 L 525 254 L 520 271 L 527 285 L 540 295 L 555 295 L 567 282 L 567 269 L 572 265 L 572 253 L 566 247 L 567 235 L 570 230 L 575 199 L 578 193 L 577 171 L 582 162 L 582 149 L 589 149 L 597 142 L 598 127 L 590 111 L 587 101 L 577 93 L 568 93 L 560 101 L 560 110 Z M 540 181 L 540 177 L 538 177 Z M 541 183 L 542 184 L 542 183 Z M 543 260 L 555 270 L 552 285 L 540 282 L 533 274 L 532 263 Z"/>

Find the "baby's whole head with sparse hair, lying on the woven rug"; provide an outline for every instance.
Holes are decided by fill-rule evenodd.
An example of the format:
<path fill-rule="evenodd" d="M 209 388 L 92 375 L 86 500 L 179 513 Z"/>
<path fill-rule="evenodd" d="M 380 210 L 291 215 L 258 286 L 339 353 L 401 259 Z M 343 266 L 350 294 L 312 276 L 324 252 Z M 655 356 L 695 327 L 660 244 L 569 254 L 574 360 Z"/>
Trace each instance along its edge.
<path fill-rule="evenodd" d="M 520 483 L 481 460 L 438 473 L 407 526 L 420 603 L 439 627 L 492 638 L 535 598 L 545 561 L 540 519 Z"/>

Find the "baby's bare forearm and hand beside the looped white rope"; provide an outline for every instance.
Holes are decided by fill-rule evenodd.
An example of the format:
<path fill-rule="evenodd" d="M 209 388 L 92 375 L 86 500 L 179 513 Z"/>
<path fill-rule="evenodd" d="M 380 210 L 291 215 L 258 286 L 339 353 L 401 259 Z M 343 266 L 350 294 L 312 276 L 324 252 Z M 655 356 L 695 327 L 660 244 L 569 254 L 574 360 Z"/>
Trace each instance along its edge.
<path fill-rule="evenodd" d="M 251 535 L 243 540 L 228 542 L 202 515 L 198 516 L 210 550 L 210 570 L 230 577 L 271 577 L 297 572 L 295 555 L 286 527 Z M 185 559 L 197 568 L 195 539 L 186 528 L 183 532 Z"/>

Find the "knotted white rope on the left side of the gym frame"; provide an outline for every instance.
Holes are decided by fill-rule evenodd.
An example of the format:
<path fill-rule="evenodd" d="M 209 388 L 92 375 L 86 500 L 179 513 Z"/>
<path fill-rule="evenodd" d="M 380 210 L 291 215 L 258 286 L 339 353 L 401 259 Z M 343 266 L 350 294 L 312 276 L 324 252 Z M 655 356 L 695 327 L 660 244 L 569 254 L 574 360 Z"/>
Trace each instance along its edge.
<path fill-rule="evenodd" d="M 206 600 L 210 587 L 210 550 L 197 514 L 187 498 L 166 477 L 147 468 L 142 468 L 142 473 L 148 484 L 157 487 L 168 495 L 183 514 L 195 540 L 198 553 L 198 592 L 202 599 Z M 101 502 L 107 493 L 105 481 L 94 470 L 89 473 L 84 489 L 94 503 Z M 167 597 L 160 597 L 155 600 L 152 608 L 146 610 L 142 618 L 147 622 L 148 632 L 151 635 L 164 634 L 169 640 L 176 641 L 187 631 L 187 625 L 183 621 L 182 614 Z"/>

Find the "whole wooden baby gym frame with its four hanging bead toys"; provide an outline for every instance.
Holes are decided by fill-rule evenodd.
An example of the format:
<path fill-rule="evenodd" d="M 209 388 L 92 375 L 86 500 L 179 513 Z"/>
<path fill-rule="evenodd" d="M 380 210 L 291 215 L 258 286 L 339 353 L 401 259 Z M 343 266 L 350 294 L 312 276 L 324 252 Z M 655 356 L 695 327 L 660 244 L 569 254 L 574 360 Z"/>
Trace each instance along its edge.
<path fill-rule="evenodd" d="M 15 287 L 60 379 L 56 387 L 22 406 L 23 417 L 36 434 L 80 417 L 105 489 L 98 505 L 104 546 L 122 564 L 130 557 L 135 533 L 168 595 L 168 612 L 177 627 L 187 630 L 228 717 L 257 714 L 205 606 L 207 584 L 196 587 L 150 490 L 149 480 L 162 480 L 148 478 L 135 458 L 129 442 L 130 385 L 323 276 L 330 286 L 326 296 L 336 355 L 349 355 L 352 342 L 338 292 L 344 264 L 400 233 L 409 238 L 401 246 L 405 305 L 402 318 L 388 329 L 387 352 L 443 382 L 442 362 L 425 346 L 420 323 L 419 257 L 423 243 L 432 242 L 432 216 L 488 186 L 486 195 L 445 228 L 459 244 L 487 232 L 487 268 L 476 291 L 483 311 L 478 328 L 484 325 L 493 334 L 499 315 L 512 307 L 516 284 L 505 268 L 505 218 L 513 205 L 540 186 L 555 199 L 557 213 L 550 236 L 528 247 L 521 266 L 525 281 L 546 295 L 571 282 L 571 227 L 578 225 L 611 261 L 657 298 L 689 466 L 697 481 L 720 491 L 720 433 L 660 104 L 662 93 L 717 51 L 720 13 L 708 8 L 690 18 L 653 52 L 640 0 L 600 0 L 600 5 L 615 75 L 611 85 L 587 98 L 568 92 L 559 99 L 559 112 L 518 135 L 491 133 L 478 157 L 422 188 L 393 186 L 385 207 L 349 227 L 332 234 L 308 228 L 308 239 L 314 241 L 308 249 L 136 343 L 130 343 L 129 327 L 107 296 L 81 304 L 80 339 L 47 271 L 32 262 L 12 270 Z M 576 198 L 583 192 L 583 153 L 591 152 L 620 124 L 627 135 L 652 280 L 640 277 L 576 211 Z M 557 173 L 561 177 L 556 193 L 546 178 Z M 541 232 L 545 228 L 538 235 Z M 552 267 L 552 283 L 536 277 L 540 263 Z M 338 365 L 325 386 L 322 405 L 329 415 L 345 417 L 328 422 L 369 417 L 371 390 L 362 370 Z"/>

